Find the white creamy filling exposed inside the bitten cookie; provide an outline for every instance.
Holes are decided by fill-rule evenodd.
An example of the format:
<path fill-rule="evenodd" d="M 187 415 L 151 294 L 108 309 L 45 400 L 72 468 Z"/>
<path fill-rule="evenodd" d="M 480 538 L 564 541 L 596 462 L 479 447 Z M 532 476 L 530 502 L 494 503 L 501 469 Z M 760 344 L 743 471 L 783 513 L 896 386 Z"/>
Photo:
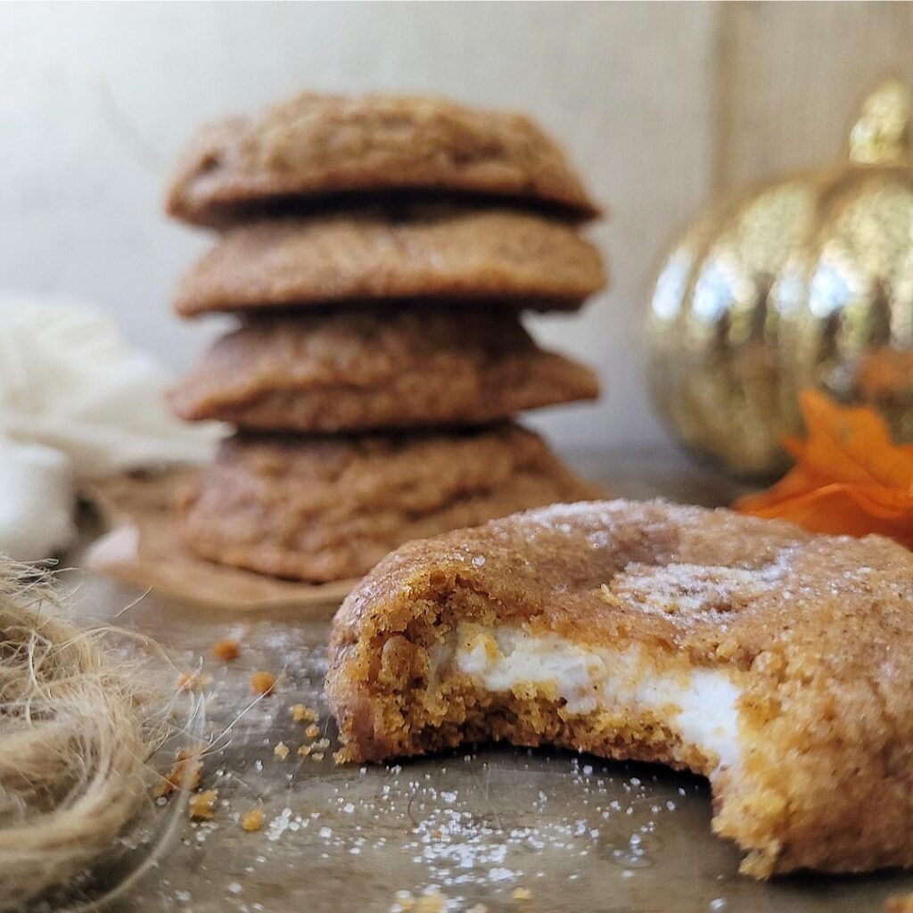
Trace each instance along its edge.
<path fill-rule="evenodd" d="M 551 686 L 572 715 L 650 712 L 681 740 L 718 758 L 717 771 L 740 762 L 740 689 L 733 679 L 709 668 L 663 670 L 640 645 L 591 647 L 553 633 L 463 622 L 435 648 L 432 667 L 435 675 L 456 668 L 494 692 Z"/>

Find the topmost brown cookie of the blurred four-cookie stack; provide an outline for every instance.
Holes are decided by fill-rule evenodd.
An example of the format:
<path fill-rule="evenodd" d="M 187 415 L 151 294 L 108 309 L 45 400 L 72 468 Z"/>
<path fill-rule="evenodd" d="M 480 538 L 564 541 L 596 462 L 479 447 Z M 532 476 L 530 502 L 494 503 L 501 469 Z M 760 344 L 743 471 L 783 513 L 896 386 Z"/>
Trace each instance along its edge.
<path fill-rule="evenodd" d="M 252 207 L 410 190 L 598 213 L 561 147 L 522 115 L 436 98 L 310 93 L 201 131 L 167 205 L 185 221 L 214 224 Z"/>

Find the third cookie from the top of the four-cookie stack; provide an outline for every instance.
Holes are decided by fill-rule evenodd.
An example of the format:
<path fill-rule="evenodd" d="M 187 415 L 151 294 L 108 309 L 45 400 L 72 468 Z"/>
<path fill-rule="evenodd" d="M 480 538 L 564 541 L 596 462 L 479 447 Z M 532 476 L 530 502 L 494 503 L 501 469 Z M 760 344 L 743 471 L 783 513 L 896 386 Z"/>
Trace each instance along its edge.
<path fill-rule="evenodd" d="M 178 415 L 279 431 L 478 425 L 599 394 L 513 312 L 331 313 L 256 320 L 217 341 L 171 395 Z"/>

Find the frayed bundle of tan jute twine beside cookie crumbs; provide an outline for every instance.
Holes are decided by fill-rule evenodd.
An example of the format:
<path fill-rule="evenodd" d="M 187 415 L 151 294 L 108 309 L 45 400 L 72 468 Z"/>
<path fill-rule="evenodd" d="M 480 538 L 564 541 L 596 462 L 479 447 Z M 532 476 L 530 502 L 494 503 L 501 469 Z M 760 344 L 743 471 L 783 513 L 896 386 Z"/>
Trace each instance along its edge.
<path fill-rule="evenodd" d="M 47 581 L 0 557 L 0 910 L 110 857 L 150 803 L 147 761 L 164 738 L 163 712 L 109 637 L 60 617 Z M 145 863 L 82 908 L 152 865 L 181 805 Z"/>

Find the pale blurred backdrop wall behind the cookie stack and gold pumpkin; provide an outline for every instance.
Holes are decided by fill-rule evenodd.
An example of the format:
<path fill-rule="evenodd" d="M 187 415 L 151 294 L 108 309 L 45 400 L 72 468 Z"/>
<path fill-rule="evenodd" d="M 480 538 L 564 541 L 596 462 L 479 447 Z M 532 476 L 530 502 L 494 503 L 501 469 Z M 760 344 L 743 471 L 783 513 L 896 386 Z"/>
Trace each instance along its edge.
<path fill-rule="evenodd" d="M 593 237 L 613 289 L 536 320 L 605 397 L 537 422 L 566 446 L 658 443 L 640 322 L 663 248 L 708 194 L 842 154 L 890 71 L 913 80 L 906 3 L 0 5 L 0 287 L 95 300 L 182 370 L 219 329 L 168 310 L 208 244 L 161 211 L 197 124 L 303 88 L 517 107 L 612 213 Z"/>

